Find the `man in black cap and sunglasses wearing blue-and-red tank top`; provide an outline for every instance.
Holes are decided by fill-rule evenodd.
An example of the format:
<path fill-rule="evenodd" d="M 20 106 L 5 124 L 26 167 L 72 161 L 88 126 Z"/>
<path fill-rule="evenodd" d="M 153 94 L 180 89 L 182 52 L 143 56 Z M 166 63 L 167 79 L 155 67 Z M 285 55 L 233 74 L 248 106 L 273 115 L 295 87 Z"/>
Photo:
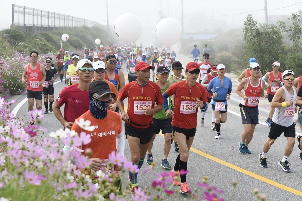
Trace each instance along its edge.
<path fill-rule="evenodd" d="M 105 79 L 111 81 L 118 93 L 125 86 L 125 78 L 123 71 L 116 68 L 117 59 L 113 54 L 108 54 L 106 60 Z"/>

